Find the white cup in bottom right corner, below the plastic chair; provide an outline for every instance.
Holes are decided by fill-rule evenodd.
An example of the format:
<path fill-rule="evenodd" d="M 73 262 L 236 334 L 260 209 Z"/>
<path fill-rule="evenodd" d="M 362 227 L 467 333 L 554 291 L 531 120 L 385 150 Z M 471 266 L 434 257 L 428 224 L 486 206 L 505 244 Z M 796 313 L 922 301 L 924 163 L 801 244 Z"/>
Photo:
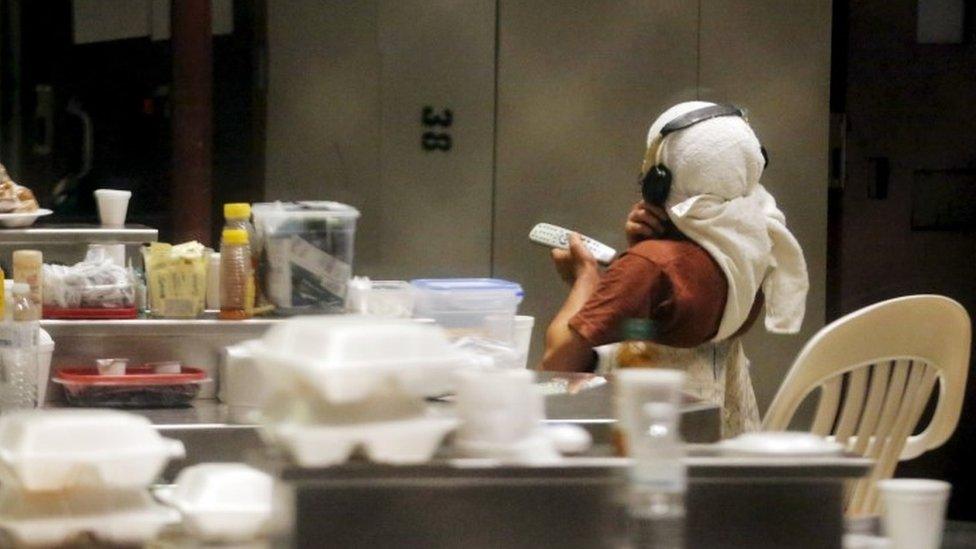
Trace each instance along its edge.
<path fill-rule="evenodd" d="M 878 482 L 885 535 L 894 549 L 938 549 L 952 486 L 941 480 L 898 478 Z"/>

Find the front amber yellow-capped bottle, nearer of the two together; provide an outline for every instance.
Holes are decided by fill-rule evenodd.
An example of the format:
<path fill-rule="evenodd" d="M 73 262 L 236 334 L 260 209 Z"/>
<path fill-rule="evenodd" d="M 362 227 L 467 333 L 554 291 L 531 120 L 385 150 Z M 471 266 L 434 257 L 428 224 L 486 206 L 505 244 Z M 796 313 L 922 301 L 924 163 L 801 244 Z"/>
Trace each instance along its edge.
<path fill-rule="evenodd" d="M 254 276 L 247 231 L 224 229 L 220 239 L 220 318 L 251 318 Z"/>

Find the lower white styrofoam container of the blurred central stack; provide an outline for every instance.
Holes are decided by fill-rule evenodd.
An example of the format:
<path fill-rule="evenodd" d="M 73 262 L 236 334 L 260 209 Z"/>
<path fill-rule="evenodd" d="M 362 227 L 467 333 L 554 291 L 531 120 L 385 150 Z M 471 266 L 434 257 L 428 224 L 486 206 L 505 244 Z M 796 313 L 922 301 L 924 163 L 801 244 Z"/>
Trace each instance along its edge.
<path fill-rule="evenodd" d="M 283 423 L 273 426 L 273 436 L 301 467 L 338 465 L 357 448 L 376 463 L 407 465 L 429 461 L 457 425 L 455 418 L 429 416 L 349 425 Z"/>

